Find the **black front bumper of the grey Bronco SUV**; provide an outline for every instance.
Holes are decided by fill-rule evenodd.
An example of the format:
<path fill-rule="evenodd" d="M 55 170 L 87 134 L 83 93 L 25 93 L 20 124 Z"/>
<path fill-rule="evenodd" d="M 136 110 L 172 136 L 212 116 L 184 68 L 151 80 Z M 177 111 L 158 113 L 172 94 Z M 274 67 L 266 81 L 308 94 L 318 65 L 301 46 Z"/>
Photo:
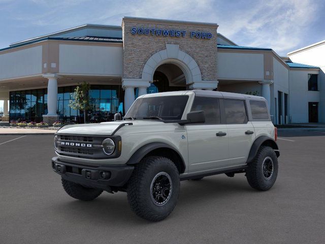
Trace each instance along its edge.
<path fill-rule="evenodd" d="M 122 187 L 134 170 L 131 165 L 85 166 L 62 162 L 52 158 L 52 169 L 63 179 L 90 188 L 110 190 L 110 187 Z"/>

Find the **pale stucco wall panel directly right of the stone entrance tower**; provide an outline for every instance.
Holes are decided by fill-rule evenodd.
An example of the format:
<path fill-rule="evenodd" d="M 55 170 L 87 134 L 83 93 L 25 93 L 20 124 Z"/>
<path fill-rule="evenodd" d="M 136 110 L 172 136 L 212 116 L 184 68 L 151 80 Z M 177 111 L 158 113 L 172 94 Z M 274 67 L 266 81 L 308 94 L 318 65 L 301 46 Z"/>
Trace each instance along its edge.
<path fill-rule="evenodd" d="M 263 54 L 218 51 L 217 64 L 218 78 L 264 80 Z"/>

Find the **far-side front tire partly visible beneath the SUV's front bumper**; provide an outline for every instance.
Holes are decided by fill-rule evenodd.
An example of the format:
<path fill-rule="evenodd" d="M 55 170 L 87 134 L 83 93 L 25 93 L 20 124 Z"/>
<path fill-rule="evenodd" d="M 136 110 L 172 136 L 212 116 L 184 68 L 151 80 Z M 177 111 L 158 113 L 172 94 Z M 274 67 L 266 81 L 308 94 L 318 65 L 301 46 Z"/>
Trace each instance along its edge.
<path fill-rule="evenodd" d="M 74 182 L 61 178 L 64 191 L 69 196 L 82 201 L 91 201 L 102 194 L 103 190 L 86 188 Z"/>

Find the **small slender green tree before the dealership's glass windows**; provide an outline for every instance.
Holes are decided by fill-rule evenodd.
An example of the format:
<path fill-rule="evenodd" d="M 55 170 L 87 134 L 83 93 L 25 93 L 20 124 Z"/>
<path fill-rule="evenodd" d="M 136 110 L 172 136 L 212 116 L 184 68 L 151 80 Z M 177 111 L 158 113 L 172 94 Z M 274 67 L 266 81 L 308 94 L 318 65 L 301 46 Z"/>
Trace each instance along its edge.
<path fill-rule="evenodd" d="M 75 110 L 83 110 L 84 123 L 86 124 L 86 111 L 91 108 L 89 101 L 90 84 L 83 82 L 75 88 L 72 95 L 74 100 L 70 100 L 69 107 Z"/>

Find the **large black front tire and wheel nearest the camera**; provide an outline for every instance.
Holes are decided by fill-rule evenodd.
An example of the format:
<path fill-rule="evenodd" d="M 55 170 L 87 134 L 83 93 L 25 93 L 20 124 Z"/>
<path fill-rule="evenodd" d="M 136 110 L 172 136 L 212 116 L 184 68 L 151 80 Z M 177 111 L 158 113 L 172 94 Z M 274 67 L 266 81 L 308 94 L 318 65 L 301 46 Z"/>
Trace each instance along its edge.
<path fill-rule="evenodd" d="M 176 206 L 180 188 L 179 173 L 168 158 L 144 158 L 127 183 L 127 200 L 143 219 L 160 221 Z"/>

